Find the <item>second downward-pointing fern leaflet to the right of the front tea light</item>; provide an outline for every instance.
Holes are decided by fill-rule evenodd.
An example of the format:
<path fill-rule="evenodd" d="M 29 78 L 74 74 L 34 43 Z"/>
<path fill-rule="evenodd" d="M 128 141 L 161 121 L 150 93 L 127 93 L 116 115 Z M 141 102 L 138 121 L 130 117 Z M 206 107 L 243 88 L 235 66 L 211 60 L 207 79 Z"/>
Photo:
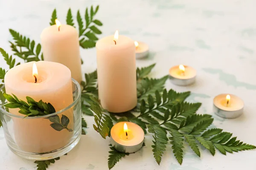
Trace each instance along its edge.
<path fill-rule="evenodd" d="M 169 139 L 171 140 L 170 143 L 172 144 L 174 156 L 177 159 L 177 161 L 179 162 L 179 164 L 182 164 L 182 161 L 183 161 L 182 148 L 184 148 L 183 147 L 183 135 L 174 129 L 170 129 L 170 133 L 171 133 L 172 137 L 169 137 Z"/>

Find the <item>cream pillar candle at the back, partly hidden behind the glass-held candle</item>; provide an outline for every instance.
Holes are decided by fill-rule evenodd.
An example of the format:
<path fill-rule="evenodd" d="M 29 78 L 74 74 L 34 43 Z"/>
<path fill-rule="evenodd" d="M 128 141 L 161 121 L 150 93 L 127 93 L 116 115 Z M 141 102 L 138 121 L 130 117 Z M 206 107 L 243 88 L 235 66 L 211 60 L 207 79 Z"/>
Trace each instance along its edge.
<path fill-rule="evenodd" d="M 59 62 L 66 65 L 73 79 L 82 80 L 79 35 L 76 28 L 69 25 L 53 25 L 41 33 L 41 45 L 45 61 Z"/>

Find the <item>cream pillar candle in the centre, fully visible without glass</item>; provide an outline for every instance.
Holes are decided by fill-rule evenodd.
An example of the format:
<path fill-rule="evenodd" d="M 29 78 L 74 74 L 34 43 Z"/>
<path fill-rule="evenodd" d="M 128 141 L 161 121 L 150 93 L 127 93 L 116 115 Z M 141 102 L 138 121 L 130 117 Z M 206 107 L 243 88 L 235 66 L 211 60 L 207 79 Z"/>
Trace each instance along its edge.
<path fill-rule="evenodd" d="M 104 37 L 96 43 L 99 99 L 104 109 L 121 113 L 137 105 L 135 46 L 131 38 Z"/>

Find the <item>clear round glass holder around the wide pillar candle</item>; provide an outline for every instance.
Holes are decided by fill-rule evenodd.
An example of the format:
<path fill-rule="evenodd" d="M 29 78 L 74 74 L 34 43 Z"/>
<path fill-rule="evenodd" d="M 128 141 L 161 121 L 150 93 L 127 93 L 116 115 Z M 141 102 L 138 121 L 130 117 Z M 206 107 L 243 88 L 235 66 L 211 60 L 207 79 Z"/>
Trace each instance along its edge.
<path fill-rule="evenodd" d="M 73 103 L 49 115 L 24 118 L 25 115 L 9 113 L 4 103 L 0 105 L 6 143 L 13 153 L 25 159 L 48 160 L 68 153 L 78 144 L 81 137 L 81 87 L 74 79 L 72 87 Z M 0 91 L 5 92 L 4 85 Z M 63 116 L 69 117 L 67 128 L 53 128 L 51 124 L 62 122 Z"/>

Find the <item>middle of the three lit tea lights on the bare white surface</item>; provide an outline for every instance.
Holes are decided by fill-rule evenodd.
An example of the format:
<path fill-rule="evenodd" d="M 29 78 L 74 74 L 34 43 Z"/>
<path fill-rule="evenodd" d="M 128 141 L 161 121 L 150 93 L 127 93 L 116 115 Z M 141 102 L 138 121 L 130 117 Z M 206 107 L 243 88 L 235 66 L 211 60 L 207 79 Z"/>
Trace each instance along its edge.
<path fill-rule="evenodd" d="M 186 65 L 176 65 L 169 70 L 169 78 L 175 85 L 191 85 L 195 77 L 196 70 Z"/>

